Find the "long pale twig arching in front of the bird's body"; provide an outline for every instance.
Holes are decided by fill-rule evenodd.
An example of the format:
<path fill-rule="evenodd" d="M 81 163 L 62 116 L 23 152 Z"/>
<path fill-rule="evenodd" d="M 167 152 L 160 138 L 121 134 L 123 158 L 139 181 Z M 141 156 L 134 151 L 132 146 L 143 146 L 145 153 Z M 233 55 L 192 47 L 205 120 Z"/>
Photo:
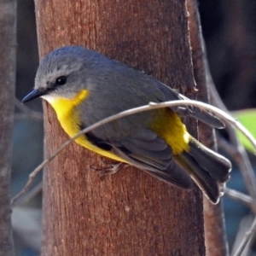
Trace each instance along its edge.
<path fill-rule="evenodd" d="M 94 129 L 98 128 L 99 126 L 105 125 L 108 122 L 111 122 L 115 119 L 123 118 L 125 116 L 131 115 L 134 113 L 141 113 L 141 112 L 145 112 L 145 111 L 149 111 L 149 110 L 153 110 L 153 109 L 157 109 L 157 108 L 167 108 L 167 107 L 187 106 L 187 105 L 195 106 L 195 107 L 201 108 L 202 110 L 206 110 L 206 111 L 211 111 L 216 116 L 218 116 L 220 119 L 224 119 L 225 122 L 230 122 L 237 129 L 239 129 L 239 131 L 241 131 L 245 135 L 245 137 L 247 137 L 247 139 L 252 143 L 252 145 L 256 151 L 256 141 L 253 138 L 253 136 L 250 134 L 250 132 L 247 131 L 247 129 L 245 127 L 240 125 L 239 122 L 236 119 L 232 118 L 228 113 L 224 113 L 224 111 L 222 111 L 216 107 L 213 107 L 204 102 L 197 102 L 197 101 L 192 101 L 192 100 L 172 101 L 172 102 L 162 102 L 162 103 L 150 102 L 148 105 L 145 105 L 143 107 L 131 108 L 131 109 L 123 111 L 121 113 L 114 114 L 113 116 L 110 116 L 106 119 L 102 119 L 101 121 L 97 122 L 96 124 L 90 125 L 89 127 L 85 128 L 84 130 L 79 131 L 79 133 L 77 133 L 74 137 L 71 137 L 69 140 L 67 140 L 67 142 L 63 143 L 61 145 L 61 147 L 55 151 L 54 154 L 52 154 L 48 159 L 44 160 L 43 163 L 41 163 L 41 165 L 39 165 L 30 174 L 29 180 L 26 183 L 24 189 L 22 189 L 18 195 L 15 195 L 15 197 L 12 200 L 12 204 L 14 204 L 15 201 L 17 201 L 21 195 L 26 193 L 27 189 L 29 189 L 29 187 L 31 186 L 33 177 L 35 177 L 38 174 L 38 172 L 40 172 L 41 169 L 43 169 L 44 166 L 49 163 L 50 160 L 53 160 L 57 154 L 59 154 L 64 148 L 67 147 L 68 144 L 72 143 L 75 139 L 77 139 L 84 133 L 94 130 Z"/>

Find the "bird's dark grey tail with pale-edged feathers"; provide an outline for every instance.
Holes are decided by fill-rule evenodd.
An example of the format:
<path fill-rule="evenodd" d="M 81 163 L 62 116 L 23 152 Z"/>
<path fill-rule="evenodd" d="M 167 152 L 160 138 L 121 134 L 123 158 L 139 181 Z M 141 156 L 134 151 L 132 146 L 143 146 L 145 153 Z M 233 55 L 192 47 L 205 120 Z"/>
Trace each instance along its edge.
<path fill-rule="evenodd" d="M 189 141 L 189 151 L 175 155 L 174 159 L 189 172 L 207 198 L 212 203 L 218 203 L 219 197 L 224 193 L 224 184 L 230 178 L 230 160 L 205 147 L 193 137 Z"/>

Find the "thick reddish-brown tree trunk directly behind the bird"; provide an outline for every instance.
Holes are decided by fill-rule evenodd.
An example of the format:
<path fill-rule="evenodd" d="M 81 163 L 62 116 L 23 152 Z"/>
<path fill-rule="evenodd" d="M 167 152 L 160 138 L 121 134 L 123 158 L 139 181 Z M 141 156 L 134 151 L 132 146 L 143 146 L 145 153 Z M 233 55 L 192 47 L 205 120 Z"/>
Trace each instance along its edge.
<path fill-rule="evenodd" d="M 84 45 L 193 96 L 184 0 L 37 0 L 36 15 L 41 57 Z M 47 103 L 44 118 L 48 156 L 67 135 Z M 42 255 L 205 255 L 199 189 L 133 167 L 100 179 L 96 165 L 101 156 L 73 143 L 45 170 Z"/>

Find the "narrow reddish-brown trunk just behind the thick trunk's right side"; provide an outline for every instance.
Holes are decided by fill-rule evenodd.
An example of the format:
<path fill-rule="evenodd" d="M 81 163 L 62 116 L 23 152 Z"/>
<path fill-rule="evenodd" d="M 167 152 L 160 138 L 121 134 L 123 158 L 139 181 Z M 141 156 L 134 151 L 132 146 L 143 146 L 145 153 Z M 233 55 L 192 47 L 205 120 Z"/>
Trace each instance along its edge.
<path fill-rule="evenodd" d="M 201 34 L 201 22 L 195 0 L 187 0 L 189 11 L 189 35 L 192 47 L 192 59 L 195 82 L 198 89 L 198 100 L 211 102 L 209 98 L 209 79 L 211 74 L 208 69 L 207 54 Z M 212 86 L 214 86 L 212 84 Z M 211 127 L 199 122 L 199 139 L 208 148 L 216 150 L 215 134 Z M 204 218 L 207 255 L 228 255 L 227 240 L 224 228 L 224 212 L 222 201 L 212 205 L 204 200 Z"/>

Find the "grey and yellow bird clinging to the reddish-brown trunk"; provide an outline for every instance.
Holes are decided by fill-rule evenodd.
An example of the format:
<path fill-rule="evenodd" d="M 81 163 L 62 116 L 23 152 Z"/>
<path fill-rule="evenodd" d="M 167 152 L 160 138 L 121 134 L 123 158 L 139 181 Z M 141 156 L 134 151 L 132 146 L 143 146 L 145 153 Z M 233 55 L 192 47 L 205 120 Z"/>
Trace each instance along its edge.
<path fill-rule="evenodd" d="M 115 113 L 186 99 L 160 81 L 96 51 L 79 46 L 55 49 L 38 67 L 35 87 L 22 102 L 44 98 L 70 137 Z M 167 183 L 191 187 L 191 178 L 212 203 L 229 179 L 230 161 L 189 135 L 181 117 L 190 115 L 215 128 L 224 123 L 191 106 L 136 113 L 102 125 L 76 142 L 136 166 Z"/>

